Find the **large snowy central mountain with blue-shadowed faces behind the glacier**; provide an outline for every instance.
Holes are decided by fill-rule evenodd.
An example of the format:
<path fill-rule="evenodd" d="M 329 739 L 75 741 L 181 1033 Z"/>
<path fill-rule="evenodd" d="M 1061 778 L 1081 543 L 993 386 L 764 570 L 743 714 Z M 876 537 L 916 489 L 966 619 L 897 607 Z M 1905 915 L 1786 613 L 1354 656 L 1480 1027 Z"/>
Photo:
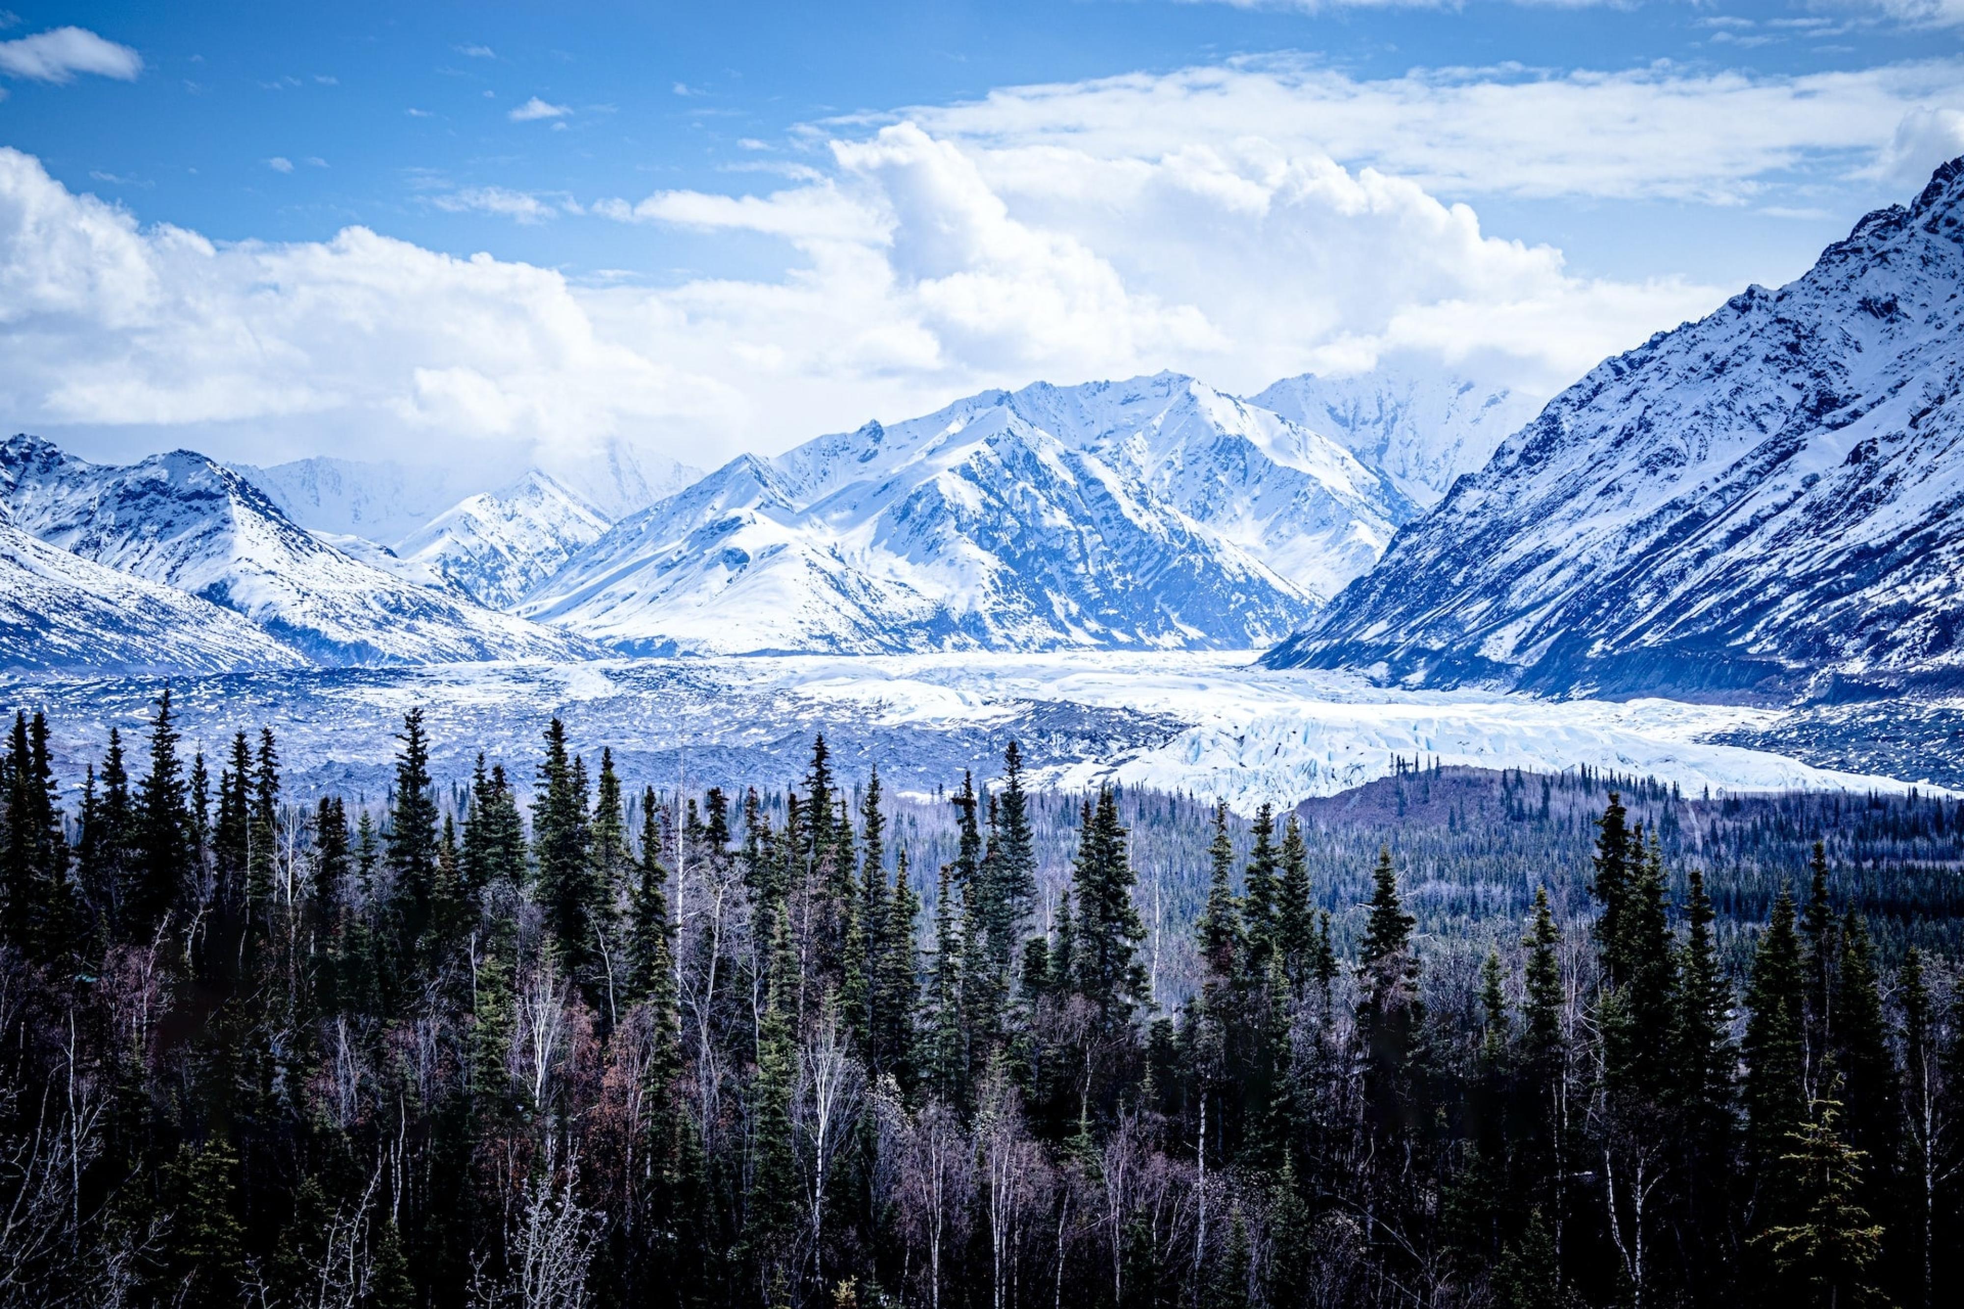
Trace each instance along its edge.
<path fill-rule="evenodd" d="M 632 651 L 1255 647 L 1410 513 L 1190 377 L 1035 385 L 736 458 L 518 611 Z"/>

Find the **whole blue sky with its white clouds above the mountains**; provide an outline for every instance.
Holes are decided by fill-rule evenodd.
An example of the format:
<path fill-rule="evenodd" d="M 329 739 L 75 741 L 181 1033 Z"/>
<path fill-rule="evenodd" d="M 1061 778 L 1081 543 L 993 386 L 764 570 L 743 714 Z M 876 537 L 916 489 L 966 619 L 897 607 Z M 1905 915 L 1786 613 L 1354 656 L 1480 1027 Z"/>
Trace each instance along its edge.
<path fill-rule="evenodd" d="M 1960 0 L 0 2 L 0 425 L 100 454 L 1550 391 L 1964 151 Z"/>

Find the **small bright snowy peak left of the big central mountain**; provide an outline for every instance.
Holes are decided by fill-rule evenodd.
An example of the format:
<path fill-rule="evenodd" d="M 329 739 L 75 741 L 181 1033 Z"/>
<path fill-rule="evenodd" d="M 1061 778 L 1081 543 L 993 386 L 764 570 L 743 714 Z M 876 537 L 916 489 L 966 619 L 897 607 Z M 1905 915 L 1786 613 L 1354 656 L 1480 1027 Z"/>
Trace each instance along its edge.
<path fill-rule="evenodd" d="M 477 603 L 505 607 L 607 535 L 607 519 L 542 472 L 444 511 L 395 550 Z"/>

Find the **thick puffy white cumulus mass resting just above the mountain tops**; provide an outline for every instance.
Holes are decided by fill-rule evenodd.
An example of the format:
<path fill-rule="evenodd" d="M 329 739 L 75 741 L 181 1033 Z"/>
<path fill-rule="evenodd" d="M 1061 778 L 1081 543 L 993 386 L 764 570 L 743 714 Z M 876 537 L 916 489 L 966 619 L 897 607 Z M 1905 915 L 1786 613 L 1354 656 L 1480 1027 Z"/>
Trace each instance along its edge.
<path fill-rule="evenodd" d="M 1035 377 L 1182 368 L 1253 389 L 1418 350 L 1555 385 L 1720 299 L 1573 277 L 1552 248 L 1328 155 L 1043 149 L 1011 197 L 972 147 L 894 124 L 770 195 L 609 206 L 790 256 L 778 277 L 674 287 L 579 285 L 365 228 L 216 244 L 0 149 L 0 409 L 234 458 L 273 458 L 267 434 L 289 454 L 430 458 L 621 436 L 703 462 Z M 432 202 L 520 220 L 554 204 Z"/>

